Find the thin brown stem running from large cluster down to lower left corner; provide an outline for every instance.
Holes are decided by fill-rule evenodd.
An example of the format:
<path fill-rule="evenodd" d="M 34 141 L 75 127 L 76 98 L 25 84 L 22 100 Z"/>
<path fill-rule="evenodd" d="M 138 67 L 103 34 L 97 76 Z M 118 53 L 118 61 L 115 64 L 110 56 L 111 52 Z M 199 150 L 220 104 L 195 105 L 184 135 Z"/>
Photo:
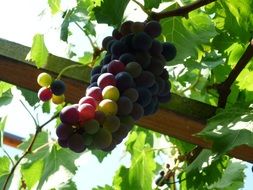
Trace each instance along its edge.
<path fill-rule="evenodd" d="M 19 165 L 19 163 L 20 163 L 28 154 L 32 153 L 33 145 L 34 145 L 34 143 L 35 143 L 35 140 L 36 140 L 37 137 L 38 137 L 38 134 L 41 132 L 42 128 L 43 128 L 44 126 L 46 126 L 48 123 L 50 123 L 51 121 L 53 121 L 54 119 L 56 119 L 56 118 L 59 116 L 59 114 L 60 114 L 60 113 L 58 112 L 57 114 L 53 115 L 48 121 L 46 121 L 46 122 L 43 123 L 41 126 L 38 126 L 38 127 L 36 128 L 36 132 L 35 132 L 35 134 L 34 134 L 34 136 L 33 136 L 33 138 L 32 138 L 32 141 L 31 141 L 30 145 L 28 146 L 28 148 L 26 149 L 26 151 L 22 154 L 22 156 L 17 160 L 17 162 L 12 166 L 11 171 L 10 171 L 10 173 L 8 174 L 8 176 L 7 176 L 7 178 L 6 178 L 5 182 L 4 182 L 3 190 L 7 190 L 8 183 L 9 183 L 9 181 L 10 181 L 12 175 L 14 174 L 14 172 L 15 172 L 17 166 Z"/>

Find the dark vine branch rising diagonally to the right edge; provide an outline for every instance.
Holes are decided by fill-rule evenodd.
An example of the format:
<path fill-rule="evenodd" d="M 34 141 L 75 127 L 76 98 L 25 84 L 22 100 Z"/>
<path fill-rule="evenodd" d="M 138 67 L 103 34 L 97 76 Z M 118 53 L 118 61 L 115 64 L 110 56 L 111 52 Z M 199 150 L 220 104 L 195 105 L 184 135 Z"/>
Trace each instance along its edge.
<path fill-rule="evenodd" d="M 231 86 L 234 83 L 235 79 L 241 73 L 241 71 L 248 64 L 250 59 L 253 57 L 253 39 L 250 41 L 247 49 L 239 59 L 238 63 L 229 73 L 228 78 L 220 84 L 217 84 L 215 88 L 218 91 L 219 99 L 218 99 L 218 107 L 224 108 L 227 103 L 227 98 L 231 92 Z"/>

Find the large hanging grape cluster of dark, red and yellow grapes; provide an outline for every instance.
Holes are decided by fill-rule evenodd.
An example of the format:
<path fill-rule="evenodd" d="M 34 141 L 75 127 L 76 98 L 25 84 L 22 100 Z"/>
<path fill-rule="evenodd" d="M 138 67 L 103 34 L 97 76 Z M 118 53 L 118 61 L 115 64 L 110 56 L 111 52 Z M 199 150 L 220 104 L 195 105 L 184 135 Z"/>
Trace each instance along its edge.
<path fill-rule="evenodd" d="M 65 107 L 57 128 L 58 142 L 74 152 L 86 148 L 111 151 L 127 136 L 135 121 L 155 113 L 170 99 L 166 61 L 176 48 L 156 38 L 156 21 L 124 22 L 104 38 L 107 51 L 91 71 L 90 85 L 78 104 Z"/>

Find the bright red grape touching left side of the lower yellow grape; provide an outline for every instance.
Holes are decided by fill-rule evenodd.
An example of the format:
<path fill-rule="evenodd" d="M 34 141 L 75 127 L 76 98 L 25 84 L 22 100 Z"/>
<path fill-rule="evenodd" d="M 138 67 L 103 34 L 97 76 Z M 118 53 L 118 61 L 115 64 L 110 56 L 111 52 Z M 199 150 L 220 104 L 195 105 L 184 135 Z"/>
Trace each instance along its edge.
<path fill-rule="evenodd" d="M 93 119 L 95 117 L 96 108 L 88 103 L 83 103 L 79 105 L 79 117 L 81 122 L 86 122 L 87 120 Z"/>

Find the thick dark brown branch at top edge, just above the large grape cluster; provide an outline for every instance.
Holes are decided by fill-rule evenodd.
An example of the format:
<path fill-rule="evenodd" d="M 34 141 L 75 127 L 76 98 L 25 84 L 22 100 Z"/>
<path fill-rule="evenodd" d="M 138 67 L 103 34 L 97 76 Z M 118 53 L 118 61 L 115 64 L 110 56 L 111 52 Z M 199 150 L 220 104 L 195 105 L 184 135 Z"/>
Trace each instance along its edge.
<path fill-rule="evenodd" d="M 168 17 L 173 17 L 173 16 L 184 16 L 187 17 L 188 13 L 198 9 L 204 5 L 207 5 L 209 3 L 215 2 L 217 0 L 198 0 L 195 1 L 194 3 L 191 3 L 189 5 L 185 5 L 183 7 L 179 7 L 177 9 L 174 10 L 170 10 L 170 11 L 163 11 L 163 12 L 151 12 L 149 17 L 151 20 L 161 20 L 164 18 L 168 18 Z"/>

